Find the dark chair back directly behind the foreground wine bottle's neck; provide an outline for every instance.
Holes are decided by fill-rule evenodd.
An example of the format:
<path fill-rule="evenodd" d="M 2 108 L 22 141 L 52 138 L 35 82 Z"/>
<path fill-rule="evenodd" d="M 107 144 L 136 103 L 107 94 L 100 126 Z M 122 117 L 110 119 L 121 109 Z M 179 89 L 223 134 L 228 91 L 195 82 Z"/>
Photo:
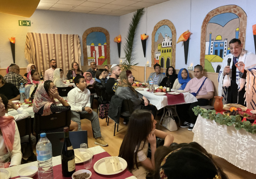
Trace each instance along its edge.
<path fill-rule="evenodd" d="M 64 143 L 64 132 L 47 133 L 46 137 L 51 142 L 53 157 L 61 155 L 61 151 Z M 70 131 L 69 138 L 73 146 L 73 149 L 80 148 L 81 143 L 86 143 L 88 146 L 87 130 Z"/>

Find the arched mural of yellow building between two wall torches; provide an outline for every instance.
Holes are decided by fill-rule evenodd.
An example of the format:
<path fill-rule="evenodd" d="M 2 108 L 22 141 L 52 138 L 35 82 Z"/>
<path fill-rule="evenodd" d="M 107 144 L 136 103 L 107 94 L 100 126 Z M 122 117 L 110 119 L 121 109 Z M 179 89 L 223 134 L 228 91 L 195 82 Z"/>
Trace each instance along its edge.
<path fill-rule="evenodd" d="M 175 67 L 176 30 L 169 20 L 158 22 L 152 32 L 152 66 Z"/>

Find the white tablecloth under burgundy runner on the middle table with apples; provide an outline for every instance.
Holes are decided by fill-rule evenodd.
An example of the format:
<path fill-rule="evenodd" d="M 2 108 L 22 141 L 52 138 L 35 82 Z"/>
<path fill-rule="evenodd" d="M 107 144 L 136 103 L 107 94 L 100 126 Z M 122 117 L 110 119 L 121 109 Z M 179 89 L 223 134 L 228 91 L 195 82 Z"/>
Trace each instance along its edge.
<path fill-rule="evenodd" d="M 161 108 L 164 108 L 165 106 L 168 106 L 166 95 L 159 96 L 144 90 L 137 90 L 137 91 L 142 95 L 144 95 L 152 105 L 156 106 L 158 110 Z M 177 104 L 192 103 L 197 101 L 196 97 L 190 94 L 189 92 L 183 92 L 183 95 L 184 95 L 185 102 L 177 103 Z"/>

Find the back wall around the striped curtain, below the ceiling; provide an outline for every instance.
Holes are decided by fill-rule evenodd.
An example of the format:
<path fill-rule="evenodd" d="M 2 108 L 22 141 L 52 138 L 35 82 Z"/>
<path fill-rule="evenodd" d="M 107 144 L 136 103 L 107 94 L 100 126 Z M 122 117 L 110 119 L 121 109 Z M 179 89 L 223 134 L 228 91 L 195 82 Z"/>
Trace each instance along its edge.
<path fill-rule="evenodd" d="M 30 20 L 33 24 L 31 27 L 18 26 L 18 20 Z M 81 64 L 83 64 L 82 35 L 91 27 L 107 29 L 110 34 L 110 59 L 111 62 L 115 61 L 118 58 L 118 51 L 114 38 L 119 34 L 119 17 L 46 10 L 36 10 L 30 18 L 0 13 L 0 68 L 6 68 L 13 63 L 8 39 L 11 36 L 16 37 L 16 64 L 20 67 L 27 67 L 24 57 L 27 32 L 78 34 L 81 42 Z"/>

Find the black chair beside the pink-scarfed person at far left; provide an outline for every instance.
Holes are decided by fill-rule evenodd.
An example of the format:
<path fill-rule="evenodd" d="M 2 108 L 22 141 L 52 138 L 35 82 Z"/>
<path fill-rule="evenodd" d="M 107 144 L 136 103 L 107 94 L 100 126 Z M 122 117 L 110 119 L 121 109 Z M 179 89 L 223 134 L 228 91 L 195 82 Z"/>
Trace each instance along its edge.
<path fill-rule="evenodd" d="M 21 149 L 26 148 L 27 145 L 30 145 L 31 152 L 33 152 L 32 144 L 31 144 L 32 122 L 33 121 L 31 120 L 31 116 L 25 119 L 20 119 L 16 121 L 18 131 L 20 133 L 20 137 L 24 137 L 28 135 L 28 142 L 22 143 Z M 21 150 L 21 152 L 23 153 L 23 150 Z"/>

